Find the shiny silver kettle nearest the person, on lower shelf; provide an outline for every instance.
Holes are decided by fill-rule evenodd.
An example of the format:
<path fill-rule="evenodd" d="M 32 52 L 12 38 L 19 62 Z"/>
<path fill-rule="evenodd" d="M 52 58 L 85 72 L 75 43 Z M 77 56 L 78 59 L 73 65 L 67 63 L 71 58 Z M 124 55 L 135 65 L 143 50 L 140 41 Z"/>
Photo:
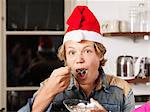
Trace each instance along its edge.
<path fill-rule="evenodd" d="M 133 79 L 140 70 L 141 58 L 133 56 L 119 56 L 117 58 L 117 76 L 123 79 Z"/>

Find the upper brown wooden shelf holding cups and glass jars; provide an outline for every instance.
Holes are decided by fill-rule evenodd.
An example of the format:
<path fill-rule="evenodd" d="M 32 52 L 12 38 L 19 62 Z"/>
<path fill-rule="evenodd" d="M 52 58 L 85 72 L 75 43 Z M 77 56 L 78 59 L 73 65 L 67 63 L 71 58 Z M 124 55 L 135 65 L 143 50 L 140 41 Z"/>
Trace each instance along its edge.
<path fill-rule="evenodd" d="M 110 32 L 110 33 L 103 33 L 104 37 L 112 37 L 112 36 L 144 37 L 145 35 L 150 36 L 150 32 Z"/>

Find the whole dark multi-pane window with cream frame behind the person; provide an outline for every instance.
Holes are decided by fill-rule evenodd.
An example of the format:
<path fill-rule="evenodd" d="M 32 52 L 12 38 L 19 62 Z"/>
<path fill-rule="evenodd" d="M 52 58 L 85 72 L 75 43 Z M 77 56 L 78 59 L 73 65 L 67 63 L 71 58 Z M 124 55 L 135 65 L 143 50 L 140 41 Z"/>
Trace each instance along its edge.
<path fill-rule="evenodd" d="M 64 65 L 56 53 L 71 5 L 68 0 L 3 0 L 0 5 L 0 110 L 17 111 L 53 69 Z M 41 39 L 49 41 L 42 49 Z"/>

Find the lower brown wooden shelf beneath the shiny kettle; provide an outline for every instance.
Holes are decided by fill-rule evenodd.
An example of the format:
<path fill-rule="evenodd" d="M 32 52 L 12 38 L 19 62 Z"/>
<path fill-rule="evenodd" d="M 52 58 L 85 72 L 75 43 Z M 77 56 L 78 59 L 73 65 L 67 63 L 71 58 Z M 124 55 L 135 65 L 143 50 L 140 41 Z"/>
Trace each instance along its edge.
<path fill-rule="evenodd" d="M 126 80 L 128 83 L 148 83 L 150 82 L 150 76 L 146 78 L 135 78 L 135 79 L 130 79 Z"/>

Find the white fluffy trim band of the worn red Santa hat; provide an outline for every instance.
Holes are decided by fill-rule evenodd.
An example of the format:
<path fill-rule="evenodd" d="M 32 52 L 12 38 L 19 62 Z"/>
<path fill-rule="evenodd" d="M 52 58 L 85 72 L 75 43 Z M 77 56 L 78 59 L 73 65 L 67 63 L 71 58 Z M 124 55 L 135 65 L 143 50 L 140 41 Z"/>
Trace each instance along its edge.
<path fill-rule="evenodd" d="M 69 40 L 73 40 L 76 42 L 80 42 L 81 40 L 89 40 L 102 43 L 102 35 L 94 31 L 73 30 L 65 34 L 63 44 Z"/>

